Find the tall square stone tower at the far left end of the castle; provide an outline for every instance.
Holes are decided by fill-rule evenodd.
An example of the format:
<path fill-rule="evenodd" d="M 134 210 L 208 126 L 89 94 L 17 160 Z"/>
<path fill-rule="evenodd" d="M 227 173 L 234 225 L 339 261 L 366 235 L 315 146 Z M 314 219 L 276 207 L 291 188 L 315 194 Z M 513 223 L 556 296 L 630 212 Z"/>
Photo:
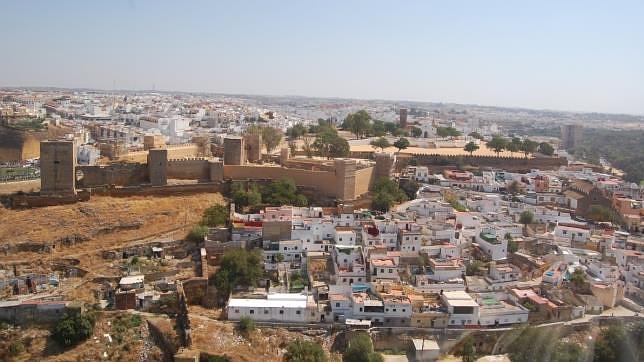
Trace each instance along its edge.
<path fill-rule="evenodd" d="M 76 145 L 73 141 L 40 142 L 40 194 L 76 195 Z"/>

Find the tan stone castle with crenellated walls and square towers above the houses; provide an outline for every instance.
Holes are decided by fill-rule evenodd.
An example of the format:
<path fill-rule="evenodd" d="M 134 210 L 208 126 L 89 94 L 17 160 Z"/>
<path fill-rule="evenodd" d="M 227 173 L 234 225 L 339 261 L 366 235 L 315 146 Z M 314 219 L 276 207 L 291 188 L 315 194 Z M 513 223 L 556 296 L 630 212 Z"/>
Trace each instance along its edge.
<path fill-rule="evenodd" d="M 391 177 L 395 156 L 378 154 L 374 161 L 338 158 L 319 160 L 290 158 L 283 149 L 278 162 L 262 163 L 259 135 L 229 136 L 223 142 L 223 157 L 170 158 L 171 148 L 151 147 L 147 162 L 112 162 L 107 165 L 77 165 L 76 144 L 71 140 L 48 140 L 40 144 L 41 192 L 39 202 L 23 206 L 56 204 L 77 200 L 79 193 L 128 190 L 171 193 L 175 189 L 216 186 L 232 181 L 293 180 L 298 188 L 320 197 L 350 202 L 369 192 L 376 179 Z M 183 181 L 181 181 L 183 180 Z M 221 190 L 221 188 L 219 188 Z M 85 196 L 88 197 L 88 196 Z M 23 200 L 24 201 L 24 200 Z"/>

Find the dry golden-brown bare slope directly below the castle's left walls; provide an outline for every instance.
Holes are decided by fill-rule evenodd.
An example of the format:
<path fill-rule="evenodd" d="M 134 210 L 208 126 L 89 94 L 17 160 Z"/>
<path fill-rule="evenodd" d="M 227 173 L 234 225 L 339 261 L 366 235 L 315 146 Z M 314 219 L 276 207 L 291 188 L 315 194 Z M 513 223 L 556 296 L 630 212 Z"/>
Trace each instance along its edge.
<path fill-rule="evenodd" d="M 1 262 L 43 258 L 20 245 L 74 240 L 57 248 L 53 257 L 79 257 L 139 239 L 174 232 L 183 237 L 199 221 L 203 210 L 223 203 L 220 194 L 167 197 L 92 197 L 89 202 L 27 210 L 0 208 Z M 46 255 L 49 257 L 49 255 Z"/>

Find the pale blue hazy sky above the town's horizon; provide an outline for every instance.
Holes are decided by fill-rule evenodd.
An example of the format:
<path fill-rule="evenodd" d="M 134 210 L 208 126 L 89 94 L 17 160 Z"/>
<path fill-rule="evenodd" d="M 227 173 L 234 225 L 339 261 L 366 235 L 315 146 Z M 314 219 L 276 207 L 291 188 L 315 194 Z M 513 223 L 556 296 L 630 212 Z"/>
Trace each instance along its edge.
<path fill-rule="evenodd" d="M 644 114 L 644 2 L 0 3 L 0 86 Z"/>

